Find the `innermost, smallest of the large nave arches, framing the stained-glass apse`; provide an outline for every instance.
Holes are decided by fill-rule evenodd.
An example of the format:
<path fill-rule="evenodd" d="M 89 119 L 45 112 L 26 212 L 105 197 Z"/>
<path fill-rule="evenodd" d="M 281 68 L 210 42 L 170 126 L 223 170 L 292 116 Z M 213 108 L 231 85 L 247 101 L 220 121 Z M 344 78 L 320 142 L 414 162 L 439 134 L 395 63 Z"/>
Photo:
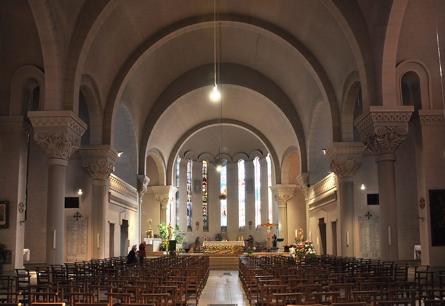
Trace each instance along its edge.
<path fill-rule="evenodd" d="M 185 143 L 185 141 L 187 141 L 191 136 L 193 136 L 195 133 L 206 129 L 208 127 L 212 127 L 212 126 L 217 126 L 218 124 L 220 124 L 218 122 L 218 119 L 214 119 L 214 120 L 209 120 L 206 122 L 203 122 L 197 126 L 194 126 L 193 128 L 191 128 L 190 130 L 186 131 L 176 142 L 175 146 L 172 149 L 172 152 L 170 153 L 170 157 L 169 160 L 167 162 L 167 185 L 170 185 L 173 181 L 173 174 L 174 174 L 174 168 L 176 166 L 176 158 L 178 156 L 178 154 L 181 152 L 180 147 L 182 146 L 182 144 Z M 222 120 L 222 124 L 223 125 L 231 125 L 231 126 L 236 126 L 239 128 L 242 128 L 246 131 L 251 132 L 253 135 L 255 135 L 256 137 L 258 137 L 258 139 L 264 144 L 264 146 L 267 148 L 267 150 L 270 152 L 270 158 L 272 159 L 272 163 L 273 165 L 278 165 L 278 156 L 276 155 L 275 150 L 272 147 L 272 144 L 270 143 L 270 141 L 267 139 L 267 137 L 260 131 L 258 131 L 257 129 L 255 129 L 254 127 L 252 127 L 251 125 L 248 125 L 244 122 L 238 121 L 238 120 L 232 120 L 232 119 L 223 119 Z M 261 156 L 260 156 L 261 157 Z M 231 162 L 232 159 L 230 158 L 230 156 L 226 155 L 226 154 L 222 154 L 222 158 L 226 158 L 227 162 Z M 278 167 L 275 167 L 275 173 L 272 174 L 275 176 L 275 181 L 277 184 L 280 183 L 280 176 L 279 176 L 279 171 L 277 170 Z"/>

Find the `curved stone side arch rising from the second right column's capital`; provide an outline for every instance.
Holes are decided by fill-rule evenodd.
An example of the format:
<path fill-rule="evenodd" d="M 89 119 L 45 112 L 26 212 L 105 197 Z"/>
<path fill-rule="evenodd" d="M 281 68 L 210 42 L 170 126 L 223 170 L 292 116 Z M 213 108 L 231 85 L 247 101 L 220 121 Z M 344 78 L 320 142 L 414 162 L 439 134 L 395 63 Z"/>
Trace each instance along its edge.
<path fill-rule="evenodd" d="M 354 103 L 361 89 L 358 71 L 351 72 L 343 87 L 342 99 L 342 141 L 354 141 Z"/>

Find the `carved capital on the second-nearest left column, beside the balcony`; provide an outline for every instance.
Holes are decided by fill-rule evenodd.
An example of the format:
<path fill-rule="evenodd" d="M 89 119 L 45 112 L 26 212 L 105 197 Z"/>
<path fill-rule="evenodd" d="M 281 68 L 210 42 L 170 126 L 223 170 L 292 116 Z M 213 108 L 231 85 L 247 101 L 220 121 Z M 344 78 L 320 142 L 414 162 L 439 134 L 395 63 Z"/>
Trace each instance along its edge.
<path fill-rule="evenodd" d="M 82 166 L 93 179 L 107 180 L 114 171 L 118 152 L 110 145 L 86 147 L 79 150 Z"/>

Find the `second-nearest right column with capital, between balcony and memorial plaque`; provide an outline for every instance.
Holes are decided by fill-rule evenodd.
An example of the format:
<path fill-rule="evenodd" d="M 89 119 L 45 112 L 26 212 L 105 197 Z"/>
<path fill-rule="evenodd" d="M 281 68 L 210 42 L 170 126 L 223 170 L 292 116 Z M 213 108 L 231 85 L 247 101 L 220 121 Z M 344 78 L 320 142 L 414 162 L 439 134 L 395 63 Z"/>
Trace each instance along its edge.
<path fill-rule="evenodd" d="M 354 175 L 361 165 L 360 142 L 333 142 L 326 148 L 331 171 L 338 176 L 342 256 L 354 257 Z"/>

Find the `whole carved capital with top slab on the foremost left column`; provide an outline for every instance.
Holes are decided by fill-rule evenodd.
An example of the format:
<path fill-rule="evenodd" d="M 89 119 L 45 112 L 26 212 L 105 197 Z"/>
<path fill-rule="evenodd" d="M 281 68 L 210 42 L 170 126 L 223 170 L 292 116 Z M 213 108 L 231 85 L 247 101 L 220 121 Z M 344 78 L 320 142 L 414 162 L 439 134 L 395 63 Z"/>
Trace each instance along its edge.
<path fill-rule="evenodd" d="M 80 148 L 87 125 L 72 111 L 28 112 L 34 127 L 34 140 L 48 158 L 68 160 Z"/>

